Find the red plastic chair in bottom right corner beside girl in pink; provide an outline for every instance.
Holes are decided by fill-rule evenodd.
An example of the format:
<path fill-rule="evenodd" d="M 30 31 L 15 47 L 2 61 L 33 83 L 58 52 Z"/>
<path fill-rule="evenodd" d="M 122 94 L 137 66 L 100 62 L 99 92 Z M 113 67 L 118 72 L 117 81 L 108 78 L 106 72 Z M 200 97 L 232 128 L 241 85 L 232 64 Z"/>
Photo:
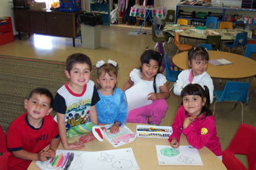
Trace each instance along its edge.
<path fill-rule="evenodd" d="M 248 170 L 256 169 L 256 128 L 242 123 L 228 148 L 222 152 L 222 162 L 228 170 L 247 170 L 235 154 L 247 155 Z"/>

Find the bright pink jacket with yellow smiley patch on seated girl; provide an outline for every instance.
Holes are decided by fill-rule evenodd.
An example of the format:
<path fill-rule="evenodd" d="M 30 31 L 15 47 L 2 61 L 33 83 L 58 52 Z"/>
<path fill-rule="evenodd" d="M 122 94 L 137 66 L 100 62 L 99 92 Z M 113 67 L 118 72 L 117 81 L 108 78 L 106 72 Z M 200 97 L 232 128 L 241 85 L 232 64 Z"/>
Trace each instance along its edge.
<path fill-rule="evenodd" d="M 169 142 L 172 138 L 177 138 L 180 142 L 181 133 L 187 137 L 188 143 L 196 149 L 201 149 L 203 146 L 210 149 L 216 156 L 222 155 L 222 149 L 217 137 L 215 126 L 215 117 L 208 116 L 205 119 L 195 119 L 187 128 L 183 129 L 185 119 L 185 109 L 183 106 L 178 110 L 174 123 L 172 123 L 173 133 L 169 136 Z"/>

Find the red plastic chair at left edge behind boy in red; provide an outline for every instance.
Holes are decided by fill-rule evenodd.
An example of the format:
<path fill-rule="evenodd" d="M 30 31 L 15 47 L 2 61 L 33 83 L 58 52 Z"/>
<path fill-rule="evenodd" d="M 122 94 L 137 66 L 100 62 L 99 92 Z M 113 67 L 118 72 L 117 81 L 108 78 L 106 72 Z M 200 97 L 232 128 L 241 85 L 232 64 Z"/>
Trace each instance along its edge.
<path fill-rule="evenodd" d="M 0 125 L 0 153 L 3 154 L 2 156 L 0 156 L 0 169 L 7 170 L 8 156 L 10 155 L 11 152 L 8 152 L 6 136 L 5 136 L 4 130 L 2 130 L 1 125 Z"/>

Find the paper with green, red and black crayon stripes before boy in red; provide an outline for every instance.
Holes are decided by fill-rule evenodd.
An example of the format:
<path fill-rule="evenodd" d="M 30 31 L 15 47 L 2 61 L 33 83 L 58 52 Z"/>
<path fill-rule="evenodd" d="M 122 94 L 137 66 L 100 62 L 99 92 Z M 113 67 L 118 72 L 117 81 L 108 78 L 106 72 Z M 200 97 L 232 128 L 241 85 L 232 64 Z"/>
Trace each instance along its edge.
<path fill-rule="evenodd" d="M 54 159 L 48 161 L 37 161 L 36 165 L 42 170 L 47 169 L 69 169 L 69 170 L 82 170 L 85 169 L 84 160 L 82 155 L 87 152 L 82 151 L 66 151 L 57 150 Z M 89 152 L 88 152 L 89 153 Z"/>

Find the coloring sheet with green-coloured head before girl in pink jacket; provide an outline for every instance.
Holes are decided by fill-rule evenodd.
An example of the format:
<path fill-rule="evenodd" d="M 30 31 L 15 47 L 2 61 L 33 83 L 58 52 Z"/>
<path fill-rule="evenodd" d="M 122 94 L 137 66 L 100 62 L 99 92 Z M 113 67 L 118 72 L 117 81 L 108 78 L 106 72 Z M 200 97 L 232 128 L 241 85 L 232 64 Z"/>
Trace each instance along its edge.
<path fill-rule="evenodd" d="M 159 165 L 203 165 L 199 152 L 193 146 L 156 145 Z"/>

